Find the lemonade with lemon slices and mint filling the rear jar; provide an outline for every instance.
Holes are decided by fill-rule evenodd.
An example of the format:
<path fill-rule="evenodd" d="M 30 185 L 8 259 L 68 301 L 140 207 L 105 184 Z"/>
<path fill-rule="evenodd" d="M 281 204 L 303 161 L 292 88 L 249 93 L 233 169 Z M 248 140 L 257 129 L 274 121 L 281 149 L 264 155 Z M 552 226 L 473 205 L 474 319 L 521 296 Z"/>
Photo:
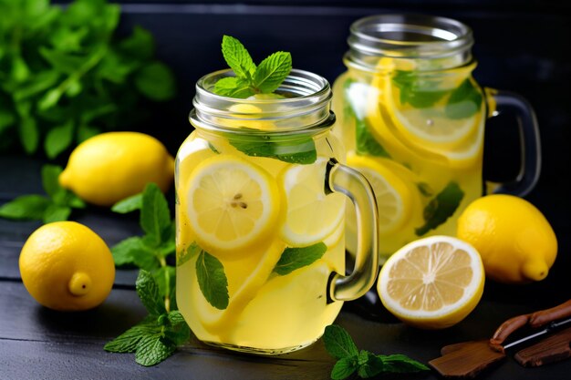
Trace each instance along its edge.
<path fill-rule="evenodd" d="M 482 195 L 484 106 L 471 69 L 428 79 L 412 70 L 349 70 L 337 79 L 337 133 L 348 165 L 361 170 L 376 192 L 382 256 L 422 236 L 453 235 L 459 213 Z M 420 84 L 438 95 L 411 92 Z M 451 104 L 465 109 L 458 118 L 450 117 Z M 353 251 L 355 227 L 348 220 Z"/>

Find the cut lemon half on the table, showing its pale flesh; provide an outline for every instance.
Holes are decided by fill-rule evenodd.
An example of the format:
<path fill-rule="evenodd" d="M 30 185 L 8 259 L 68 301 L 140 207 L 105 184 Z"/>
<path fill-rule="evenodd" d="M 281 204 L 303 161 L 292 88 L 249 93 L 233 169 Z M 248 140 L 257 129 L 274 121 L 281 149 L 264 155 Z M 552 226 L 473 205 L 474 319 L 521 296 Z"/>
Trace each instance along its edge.
<path fill-rule="evenodd" d="M 449 236 L 412 241 L 379 273 L 381 302 L 405 323 L 439 329 L 462 321 L 480 301 L 484 272 L 472 245 Z"/>

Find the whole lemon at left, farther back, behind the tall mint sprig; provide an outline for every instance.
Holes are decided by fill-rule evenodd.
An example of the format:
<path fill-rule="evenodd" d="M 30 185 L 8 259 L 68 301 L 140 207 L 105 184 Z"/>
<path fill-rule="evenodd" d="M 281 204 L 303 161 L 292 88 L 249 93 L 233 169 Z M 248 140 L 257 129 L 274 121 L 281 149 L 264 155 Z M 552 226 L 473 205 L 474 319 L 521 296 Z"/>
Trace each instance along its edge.
<path fill-rule="evenodd" d="M 161 141 L 139 132 L 108 132 L 73 150 L 59 184 L 89 203 L 111 206 L 149 182 L 166 191 L 173 176 L 174 159 Z"/>

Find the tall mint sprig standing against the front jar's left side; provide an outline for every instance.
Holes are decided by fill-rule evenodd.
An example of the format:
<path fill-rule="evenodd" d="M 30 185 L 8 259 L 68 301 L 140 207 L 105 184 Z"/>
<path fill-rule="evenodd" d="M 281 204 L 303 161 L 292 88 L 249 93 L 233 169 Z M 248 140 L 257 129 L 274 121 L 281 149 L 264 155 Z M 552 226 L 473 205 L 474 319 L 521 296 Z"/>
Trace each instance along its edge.
<path fill-rule="evenodd" d="M 176 270 L 167 263 L 175 251 L 174 221 L 159 187 L 150 183 L 142 193 L 119 201 L 113 211 L 140 210 L 143 236 L 132 236 L 111 248 L 117 266 L 140 268 L 135 287 L 149 315 L 140 324 L 105 345 L 113 353 L 135 353 L 140 365 L 156 365 L 190 338 L 191 331 L 176 310 Z"/>

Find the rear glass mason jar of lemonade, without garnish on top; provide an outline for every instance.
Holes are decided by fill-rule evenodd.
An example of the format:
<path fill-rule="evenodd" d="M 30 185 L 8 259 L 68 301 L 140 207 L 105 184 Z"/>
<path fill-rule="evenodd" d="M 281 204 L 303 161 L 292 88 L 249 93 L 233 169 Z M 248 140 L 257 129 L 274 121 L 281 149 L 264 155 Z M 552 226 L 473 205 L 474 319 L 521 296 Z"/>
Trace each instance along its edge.
<path fill-rule="evenodd" d="M 373 185 L 379 255 L 431 234 L 455 235 L 462 210 L 484 188 L 524 196 L 539 175 L 539 134 L 524 99 L 472 77 L 470 27 L 429 15 L 374 15 L 350 28 L 347 72 L 333 87 L 334 129 L 348 165 Z M 485 119 L 511 108 L 520 119 L 522 169 L 506 184 L 483 182 Z M 485 186 L 484 186 L 485 185 Z M 357 230 L 348 207 L 348 251 Z"/>

